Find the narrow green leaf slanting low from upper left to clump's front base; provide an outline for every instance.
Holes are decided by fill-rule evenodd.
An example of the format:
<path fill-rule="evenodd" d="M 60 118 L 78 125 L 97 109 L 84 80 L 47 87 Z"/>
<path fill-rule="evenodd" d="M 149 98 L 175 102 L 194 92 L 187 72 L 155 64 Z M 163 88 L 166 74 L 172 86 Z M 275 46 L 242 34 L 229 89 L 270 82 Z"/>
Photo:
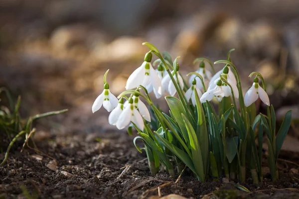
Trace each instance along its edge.
<path fill-rule="evenodd" d="M 165 147 L 167 147 L 175 156 L 177 156 L 181 161 L 183 161 L 185 165 L 187 165 L 187 167 L 191 169 L 192 172 L 196 174 L 193 162 L 191 158 L 188 156 L 188 154 L 186 154 L 184 151 L 180 150 L 179 148 L 177 148 L 176 146 L 168 142 L 165 138 L 161 137 L 157 132 L 155 133 L 157 138 L 165 145 Z"/>

